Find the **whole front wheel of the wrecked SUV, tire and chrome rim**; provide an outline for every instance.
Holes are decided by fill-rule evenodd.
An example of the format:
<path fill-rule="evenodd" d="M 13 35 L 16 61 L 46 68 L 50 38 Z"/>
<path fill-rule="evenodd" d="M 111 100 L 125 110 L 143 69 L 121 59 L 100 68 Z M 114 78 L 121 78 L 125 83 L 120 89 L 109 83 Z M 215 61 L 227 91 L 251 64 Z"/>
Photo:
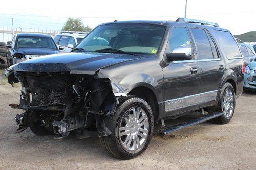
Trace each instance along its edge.
<path fill-rule="evenodd" d="M 146 150 L 154 130 L 154 115 L 146 101 L 128 96 L 108 121 L 112 134 L 100 137 L 100 143 L 108 154 L 119 159 L 132 159 Z"/>

